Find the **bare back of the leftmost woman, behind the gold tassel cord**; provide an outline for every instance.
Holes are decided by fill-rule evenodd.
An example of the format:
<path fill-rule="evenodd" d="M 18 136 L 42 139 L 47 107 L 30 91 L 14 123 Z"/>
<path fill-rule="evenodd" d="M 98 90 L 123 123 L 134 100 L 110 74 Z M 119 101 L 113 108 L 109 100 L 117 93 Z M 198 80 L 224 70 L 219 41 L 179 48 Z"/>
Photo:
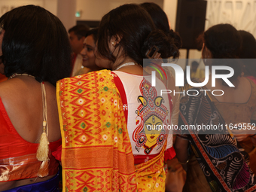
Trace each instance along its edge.
<path fill-rule="evenodd" d="M 48 139 L 49 142 L 54 142 L 61 138 L 56 104 L 56 88 L 52 84 L 45 82 L 45 90 L 49 128 Z M 18 76 L 0 84 L 0 97 L 17 133 L 27 142 L 38 143 L 43 132 L 41 84 L 35 78 Z M 51 177 L 53 175 L 44 178 L 0 182 L 0 191 L 46 181 Z"/>

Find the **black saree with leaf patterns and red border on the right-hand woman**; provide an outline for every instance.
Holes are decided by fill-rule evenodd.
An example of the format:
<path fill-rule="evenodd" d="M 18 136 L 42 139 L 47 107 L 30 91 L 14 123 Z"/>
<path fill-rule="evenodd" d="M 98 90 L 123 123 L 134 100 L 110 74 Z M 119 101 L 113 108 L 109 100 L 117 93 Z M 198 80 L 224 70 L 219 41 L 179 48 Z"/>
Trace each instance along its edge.
<path fill-rule="evenodd" d="M 226 129 L 225 121 L 208 93 L 201 87 L 185 87 L 184 90 L 190 90 L 189 94 L 194 93 L 194 96 L 181 97 L 179 124 L 218 127 L 207 130 L 207 133 L 206 130 L 183 132 L 187 134 L 209 187 L 212 191 L 256 191 L 254 174 L 248 166 L 248 154 Z M 194 183 L 202 181 L 195 179 Z M 202 188 L 200 191 L 203 191 Z"/>

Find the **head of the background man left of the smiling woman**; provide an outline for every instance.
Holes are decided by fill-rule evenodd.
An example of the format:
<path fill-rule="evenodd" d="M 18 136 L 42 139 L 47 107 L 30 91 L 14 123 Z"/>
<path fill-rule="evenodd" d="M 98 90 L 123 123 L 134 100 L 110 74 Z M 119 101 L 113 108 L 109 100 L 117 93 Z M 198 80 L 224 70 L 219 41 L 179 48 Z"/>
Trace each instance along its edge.
<path fill-rule="evenodd" d="M 69 41 L 74 53 L 78 54 L 83 50 L 84 38 L 88 31 L 89 27 L 85 25 L 77 25 L 69 29 Z"/>

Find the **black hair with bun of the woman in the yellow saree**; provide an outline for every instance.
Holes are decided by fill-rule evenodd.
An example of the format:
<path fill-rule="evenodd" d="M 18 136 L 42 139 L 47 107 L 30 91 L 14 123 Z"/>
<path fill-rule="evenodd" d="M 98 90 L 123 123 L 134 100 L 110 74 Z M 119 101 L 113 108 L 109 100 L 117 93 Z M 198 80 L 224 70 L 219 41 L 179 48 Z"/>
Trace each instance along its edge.
<path fill-rule="evenodd" d="M 98 52 L 104 58 L 115 62 L 108 43 L 111 38 L 120 37 L 119 43 L 126 56 L 142 65 L 146 53 L 153 46 L 158 47 L 162 58 L 178 57 L 174 40 L 162 30 L 156 29 L 150 15 L 144 8 L 135 4 L 121 5 L 105 14 L 99 24 Z"/>

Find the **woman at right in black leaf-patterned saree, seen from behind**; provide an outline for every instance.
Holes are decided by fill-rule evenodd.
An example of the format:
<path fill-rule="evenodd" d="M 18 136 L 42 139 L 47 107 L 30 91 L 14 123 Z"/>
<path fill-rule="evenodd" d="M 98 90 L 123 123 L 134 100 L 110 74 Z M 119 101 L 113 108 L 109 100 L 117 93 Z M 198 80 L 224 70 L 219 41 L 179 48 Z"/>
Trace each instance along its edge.
<path fill-rule="evenodd" d="M 241 44 L 239 32 L 230 24 L 212 26 L 203 34 L 205 64 L 210 69 L 232 68 L 233 77 L 228 81 L 233 87 L 221 78 L 213 82 L 213 75 L 203 87 L 184 87 L 200 93 L 181 96 L 179 123 L 196 128 L 185 130 L 175 141 L 177 158 L 187 170 L 183 191 L 239 192 L 256 188 L 252 172 L 255 171 L 253 142 L 256 143 L 256 136 L 254 131 L 246 133 L 251 120 L 256 120 L 256 86 L 242 76 L 242 65 L 237 59 Z M 216 70 L 216 74 L 227 75 L 227 70 Z M 203 90 L 218 90 L 223 94 L 203 94 Z M 197 129 L 199 126 L 208 128 Z M 250 163 L 248 154 L 253 155 Z"/>

